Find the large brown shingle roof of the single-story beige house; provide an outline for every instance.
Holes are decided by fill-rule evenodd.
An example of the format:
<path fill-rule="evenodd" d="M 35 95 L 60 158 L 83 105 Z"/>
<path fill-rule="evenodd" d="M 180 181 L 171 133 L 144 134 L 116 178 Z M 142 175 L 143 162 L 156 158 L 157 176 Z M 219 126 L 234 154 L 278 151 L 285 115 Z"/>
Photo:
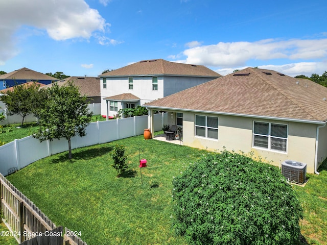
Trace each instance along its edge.
<path fill-rule="evenodd" d="M 300 120 L 327 120 L 327 88 L 273 70 L 246 68 L 145 104 Z"/>

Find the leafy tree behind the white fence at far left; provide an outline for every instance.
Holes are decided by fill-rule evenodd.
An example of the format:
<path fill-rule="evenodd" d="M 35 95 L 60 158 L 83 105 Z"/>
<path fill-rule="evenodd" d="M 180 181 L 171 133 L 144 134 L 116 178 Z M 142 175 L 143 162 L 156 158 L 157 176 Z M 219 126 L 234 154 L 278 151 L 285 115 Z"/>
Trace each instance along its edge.
<path fill-rule="evenodd" d="M 18 114 L 22 117 L 21 126 L 24 124 L 25 117 L 33 113 L 33 100 L 37 100 L 39 87 L 37 83 L 29 86 L 16 84 L 12 91 L 9 90 L 0 97 L 0 100 L 6 104 L 9 115 Z"/>

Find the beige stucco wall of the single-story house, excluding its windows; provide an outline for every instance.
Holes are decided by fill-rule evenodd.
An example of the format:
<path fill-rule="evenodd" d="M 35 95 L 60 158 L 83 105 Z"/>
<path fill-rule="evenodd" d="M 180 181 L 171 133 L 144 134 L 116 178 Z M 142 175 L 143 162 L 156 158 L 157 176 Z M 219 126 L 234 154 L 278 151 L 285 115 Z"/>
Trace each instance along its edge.
<path fill-rule="evenodd" d="M 218 140 L 195 136 L 195 114 L 218 116 Z M 252 128 L 254 120 L 288 125 L 287 152 L 283 153 L 253 148 Z M 210 151 L 221 151 L 225 147 L 227 150 L 234 150 L 237 153 L 240 151 L 244 153 L 253 152 L 254 157 L 260 156 L 262 159 L 267 158 L 265 161 L 272 161 L 272 164 L 275 166 L 279 166 L 285 160 L 295 160 L 306 163 L 308 173 L 314 173 L 316 129 L 317 125 L 299 122 L 183 112 L 183 145 Z M 327 135 L 327 132 L 325 133 Z M 324 145 L 321 146 L 321 149 L 323 147 L 327 149 L 327 139 L 324 140 Z M 325 152 L 323 150 L 321 151 L 322 154 Z"/>

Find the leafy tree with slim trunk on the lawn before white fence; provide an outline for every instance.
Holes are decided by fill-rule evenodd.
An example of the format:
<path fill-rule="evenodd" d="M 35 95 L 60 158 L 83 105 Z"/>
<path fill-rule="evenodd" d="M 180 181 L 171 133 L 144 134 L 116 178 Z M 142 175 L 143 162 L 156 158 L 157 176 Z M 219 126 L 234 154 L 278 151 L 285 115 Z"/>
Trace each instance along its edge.
<path fill-rule="evenodd" d="M 91 120 L 86 96 L 81 96 L 72 82 L 66 86 L 54 83 L 48 88 L 48 100 L 39 109 L 39 129 L 34 135 L 40 141 L 65 138 L 68 141 L 68 159 L 72 159 L 71 138 L 85 136 L 85 128 Z"/>

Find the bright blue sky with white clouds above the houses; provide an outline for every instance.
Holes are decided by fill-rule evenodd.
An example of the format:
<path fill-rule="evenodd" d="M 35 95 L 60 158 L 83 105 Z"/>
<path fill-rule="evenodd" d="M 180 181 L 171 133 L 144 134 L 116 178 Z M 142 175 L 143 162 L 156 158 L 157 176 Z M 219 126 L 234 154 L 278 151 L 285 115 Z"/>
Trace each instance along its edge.
<path fill-rule="evenodd" d="M 326 12 L 325 0 L 0 0 L 0 70 L 98 76 L 165 59 L 310 77 L 327 70 Z"/>

